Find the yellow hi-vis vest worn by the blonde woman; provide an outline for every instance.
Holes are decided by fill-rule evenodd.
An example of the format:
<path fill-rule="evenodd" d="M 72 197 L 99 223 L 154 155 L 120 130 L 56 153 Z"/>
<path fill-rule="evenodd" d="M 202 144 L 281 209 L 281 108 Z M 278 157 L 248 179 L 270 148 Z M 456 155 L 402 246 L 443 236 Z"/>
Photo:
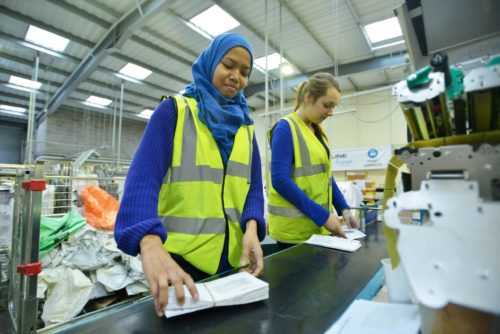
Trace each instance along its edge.
<path fill-rule="evenodd" d="M 332 171 L 330 158 L 313 131 L 297 113 L 282 118 L 290 125 L 294 163 L 292 180 L 311 200 L 332 212 Z M 272 131 L 272 130 L 271 130 Z M 271 139 L 271 131 L 268 139 Z M 322 134 L 328 144 L 328 138 Z M 271 180 L 271 177 L 269 178 Z M 313 234 L 330 234 L 284 199 L 272 186 L 269 190 L 269 234 L 282 242 L 303 242 Z"/>

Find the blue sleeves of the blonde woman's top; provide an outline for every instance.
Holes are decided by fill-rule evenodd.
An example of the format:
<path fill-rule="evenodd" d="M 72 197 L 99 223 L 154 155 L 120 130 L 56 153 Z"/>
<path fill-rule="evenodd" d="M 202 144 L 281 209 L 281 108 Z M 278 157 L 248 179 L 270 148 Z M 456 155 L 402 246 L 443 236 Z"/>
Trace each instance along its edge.
<path fill-rule="evenodd" d="M 293 140 L 290 125 L 285 120 L 278 121 L 273 129 L 271 151 L 271 181 L 274 189 L 316 225 L 323 226 L 328 220 L 330 212 L 311 200 L 291 178 L 294 162 Z M 328 150 L 327 153 L 330 155 Z M 349 206 L 333 177 L 332 195 L 333 206 L 337 213 L 342 215 L 342 211 L 349 209 Z"/>

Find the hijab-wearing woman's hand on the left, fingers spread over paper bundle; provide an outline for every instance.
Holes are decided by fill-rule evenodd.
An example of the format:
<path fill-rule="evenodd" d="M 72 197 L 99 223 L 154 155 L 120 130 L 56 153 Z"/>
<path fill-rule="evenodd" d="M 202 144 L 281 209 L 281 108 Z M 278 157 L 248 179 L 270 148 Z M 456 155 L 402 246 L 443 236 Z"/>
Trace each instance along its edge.
<path fill-rule="evenodd" d="M 163 315 L 163 310 L 168 303 L 169 283 L 172 283 L 175 288 L 177 304 L 184 304 L 184 284 L 193 299 L 198 300 L 199 295 L 193 279 L 163 249 L 159 236 L 146 235 L 142 238 L 140 247 L 142 269 L 153 295 L 156 314 L 159 317 Z"/>

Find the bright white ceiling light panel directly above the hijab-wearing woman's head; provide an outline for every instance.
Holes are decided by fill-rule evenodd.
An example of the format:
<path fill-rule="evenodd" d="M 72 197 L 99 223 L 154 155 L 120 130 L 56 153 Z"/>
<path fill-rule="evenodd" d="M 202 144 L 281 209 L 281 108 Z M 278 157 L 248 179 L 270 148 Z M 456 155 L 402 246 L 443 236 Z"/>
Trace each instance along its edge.
<path fill-rule="evenodd" d="M 217 36 L 240 25 L 238 21 L 217 5 L 213 5 L 196 15 L 189 22 L 212 36 Z"/>

